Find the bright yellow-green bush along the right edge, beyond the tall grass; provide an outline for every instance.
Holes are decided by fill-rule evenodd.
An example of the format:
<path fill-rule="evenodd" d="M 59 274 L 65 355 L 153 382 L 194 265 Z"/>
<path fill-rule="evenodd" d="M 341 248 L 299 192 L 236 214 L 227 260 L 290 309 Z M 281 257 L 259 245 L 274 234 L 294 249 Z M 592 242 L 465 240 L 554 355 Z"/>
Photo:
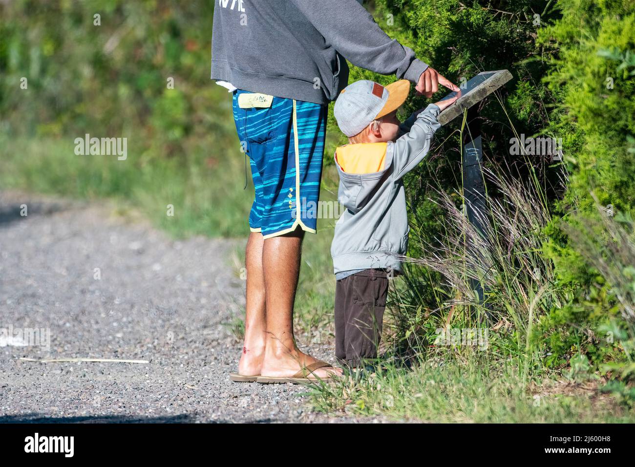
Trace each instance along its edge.
<path fill-rule="evenodd" d="M 568 134 L 569 177 L 545 253 L 576 299 L 541 327 L 554 354 L 586 352 L 597 365 L 619 356 L 614 346 L 599 345 L 598 334 L 623 309 L 615 284 L 598 266 L 613 241 L 601 218 L 627 219 L 635 208 L 635 5 L 560 0 L 557 6 L 562 18 L 540 30 L 538 43 L 550 64 L 544 81 L 558 96 L 551 126 Z M 568 332 L 571 323 L 584 333 Z"/>

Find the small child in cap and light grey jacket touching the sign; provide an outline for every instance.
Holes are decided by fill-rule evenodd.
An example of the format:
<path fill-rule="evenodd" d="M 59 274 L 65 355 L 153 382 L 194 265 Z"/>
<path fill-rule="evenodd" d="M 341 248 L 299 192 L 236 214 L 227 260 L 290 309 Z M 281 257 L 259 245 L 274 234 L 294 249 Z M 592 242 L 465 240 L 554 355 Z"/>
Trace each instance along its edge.
<path fill-rule="evenodd" d="M 399 255 L 408 248 L 403 176 L 424 159 L 441 127 L 439 112 L 457 99 L 430 104 L 400 125 L 397 109 L 409 91 L 405 79 L 386 87 L 362 80 L 335 101 L 335 119 L 351 143 L 335 151 L 338 200 L 346 208 L 331 245 L 335 356 L 352 368 L 377 358 L 388 276 L 401 271 Z"/>

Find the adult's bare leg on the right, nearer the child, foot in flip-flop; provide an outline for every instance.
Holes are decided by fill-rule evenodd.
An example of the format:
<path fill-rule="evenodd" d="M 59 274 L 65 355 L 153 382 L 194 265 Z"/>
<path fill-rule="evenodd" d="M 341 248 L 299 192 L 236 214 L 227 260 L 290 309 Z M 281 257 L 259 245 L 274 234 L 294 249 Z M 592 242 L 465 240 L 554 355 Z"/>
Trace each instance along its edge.
<path fill-rule="evenodd" d="M 293 337 L 293 301 L 300 273 L 300 252 L 304 231 L 267 238 L 262 249 L 262 266 L 267 303 L 267 337 L 261 374 L 293 376 L 317 359 L 302 353 Z M 328 377 L 333 368 L 319 369 L 316 376 Z"/>

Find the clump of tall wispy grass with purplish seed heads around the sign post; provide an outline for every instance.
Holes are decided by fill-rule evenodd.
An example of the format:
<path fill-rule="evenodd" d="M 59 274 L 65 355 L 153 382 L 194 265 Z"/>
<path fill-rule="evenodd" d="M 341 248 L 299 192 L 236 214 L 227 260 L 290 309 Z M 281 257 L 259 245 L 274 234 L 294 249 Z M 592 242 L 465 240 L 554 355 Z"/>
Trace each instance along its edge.
<path fill-rule="evenodd" d="M 404 259 L 410 263 L 408 274 L 392 301 L 398 341 L 392 343 L 402 352 L 429 352 L 439 328 L 458 326 L 502 330 L 511 339 L 508 344 L 528 353 L 538 318 L 570 299 L 543 252 L 550 214 L 537 185 L 500 169 L 485 170 L 485 177 L 497 194 L 486 199 L 487 212 L 476 212 L 482 231 L 452 194 L 439 191 L 435 202 L 444 213 L 442 234 L 420 247 L 425 255 Z M 413 292 L 422 287 L 432 295 L 423 307 Z"/>

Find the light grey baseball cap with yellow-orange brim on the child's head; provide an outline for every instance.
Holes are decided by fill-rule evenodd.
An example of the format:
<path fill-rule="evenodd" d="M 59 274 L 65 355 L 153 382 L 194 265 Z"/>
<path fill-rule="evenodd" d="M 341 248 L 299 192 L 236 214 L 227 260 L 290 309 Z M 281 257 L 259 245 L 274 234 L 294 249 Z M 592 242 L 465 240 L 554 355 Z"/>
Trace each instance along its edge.
<path fill-rule="evenodd" d="M 399 79 L 388 86 L 361 79 L 346 86 L 333 107 L 337 125 L 346 136 L 355 136 L 371 121 L 399 109 L 410 92 L 410 81 Z"/>

